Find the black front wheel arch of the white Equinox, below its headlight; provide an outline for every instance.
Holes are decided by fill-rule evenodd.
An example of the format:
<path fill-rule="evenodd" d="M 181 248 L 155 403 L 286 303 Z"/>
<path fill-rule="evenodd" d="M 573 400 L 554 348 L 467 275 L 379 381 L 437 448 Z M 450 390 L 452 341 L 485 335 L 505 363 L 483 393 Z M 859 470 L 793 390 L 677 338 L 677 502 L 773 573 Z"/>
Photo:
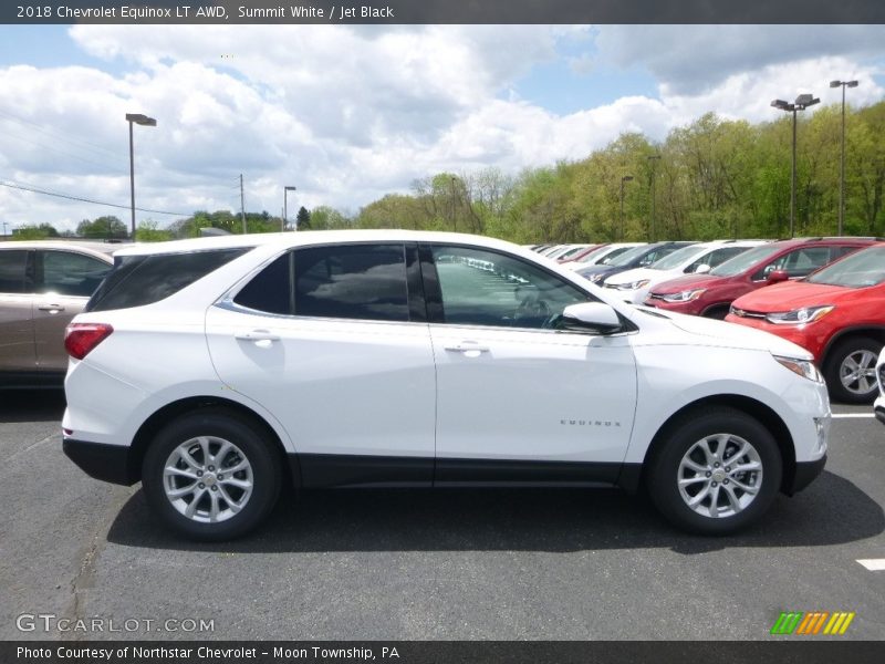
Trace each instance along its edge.
<path fill-rule="evenodd" d="M 670 432 L 673 432 L 680 422 L 690 417 L 693 414 L 704 413 L 717 406 L 733 408 L 750 415 L 771 432 L 771 435 L 778 444 L 781 461 L 783 463 L 783 476 L 781 478 L 780 489 L 781 491 L 787 491 L 788 487 L 793 486 L 793 478 L 795 477 L 795 446 L 787 423 L 784 423 L 780 415 L 767 404 L 740 394 L 717 394 L 707 396 L 688 403 L 673 413 L 666 422 L 658 427 L 652 438 L 652 444 L 645 452 L 642 464 L 634 466 L 632 471 L 627 470 L 626 473 L 622 473 L 618 484 L 631 492 L 637 491 L 644 484 L 649 461 L 654 460 L 655 455 L 665 444 Z"/>

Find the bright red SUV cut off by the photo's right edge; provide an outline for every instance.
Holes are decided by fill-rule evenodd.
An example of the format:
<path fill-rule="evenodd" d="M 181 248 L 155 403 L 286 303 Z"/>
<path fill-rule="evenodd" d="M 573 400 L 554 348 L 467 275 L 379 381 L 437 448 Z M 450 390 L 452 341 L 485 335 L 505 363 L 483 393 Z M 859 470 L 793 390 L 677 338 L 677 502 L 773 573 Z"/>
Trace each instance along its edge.
<path fill-rule="evenodd" d="M 857 251 L 794 283 L 735 300 L 726 319 L 806 349 L 830 395 L 871 403 L 885 345 L 885 242 Z"/>

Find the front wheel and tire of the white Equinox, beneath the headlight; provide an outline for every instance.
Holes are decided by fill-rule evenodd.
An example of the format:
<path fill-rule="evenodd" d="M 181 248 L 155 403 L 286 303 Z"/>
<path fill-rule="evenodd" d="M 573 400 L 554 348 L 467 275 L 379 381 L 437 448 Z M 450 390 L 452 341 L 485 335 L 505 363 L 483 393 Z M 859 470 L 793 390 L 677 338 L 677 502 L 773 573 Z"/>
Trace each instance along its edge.
<path fill-rule="evenodd" d="M 704 440 L 708 440 L 707 449 L 715 453 L 712 456 L 698 447 Z M 745 443 L 751 446 L 752 454 Z M 735 460 L 739 447 L 748 453 Z M 709 470 L 707 461 L 699 458 L 710 459 Z M 742 467 L 758 464 L 761 473 L 736 470 L 727 464 L 714 466 L 719 463 L 716 458 Z M 684 467 L 684 459 L 705 470 Z M 781 486 L 783 461 L 774 437 L 759 421 L 741 411 L 716 407 L 693 412 L 670 426 L 646 470 L 648 495 L 671 523 L 698 535 L 729 535 L 757 521 L 771 506 Z M 680 479 L 690 483 L 684 489 L 685 497 Z M 750 490 L 745 491 L 741 486 Z M 707 494 L 701 496 L 705 490 Z M 694 499 L 699 500 L 696 508 L 688 505 Z M 714 511 L 719 516 L 714 517 Z"/>

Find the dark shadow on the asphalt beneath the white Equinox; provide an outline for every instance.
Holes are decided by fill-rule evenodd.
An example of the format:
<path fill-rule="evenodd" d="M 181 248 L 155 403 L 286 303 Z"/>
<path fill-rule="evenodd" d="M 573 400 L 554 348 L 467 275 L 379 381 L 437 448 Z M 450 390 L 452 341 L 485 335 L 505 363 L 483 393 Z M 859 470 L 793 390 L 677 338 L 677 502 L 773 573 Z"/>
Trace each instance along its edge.
<path fill-rule="evenodd" d="M 142 490 L 107 533 L 112 543 L 212 552 L 583 551 L 827 546 L 885 530 L 879 505 L 824 473 L 795 498 L 779 497 L 754 528 L 726 538 L 686 535 L 647 499 L 616 489 L 375 489 L 290 492 L 254 533 L 201 543 L 166 530 Z"/>

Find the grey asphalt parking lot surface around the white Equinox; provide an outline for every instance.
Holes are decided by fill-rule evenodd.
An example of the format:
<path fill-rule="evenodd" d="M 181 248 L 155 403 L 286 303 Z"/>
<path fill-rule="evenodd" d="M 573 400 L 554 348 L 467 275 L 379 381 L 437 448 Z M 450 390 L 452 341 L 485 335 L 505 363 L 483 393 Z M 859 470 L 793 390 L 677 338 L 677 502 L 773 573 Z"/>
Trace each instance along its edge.
<path fill-rule="evenodd" d="M 885 637 L 885 570 L 857 562 L 885 559 L 870 407 L 834 406 L 823 476 L 727 539 L 617 490 L 353 490 L 290 496 L 221 544 L 86 477 L 63 408 L 0 393 L 2 640 L 770 640 L 782 611 L 854 612 L 844 639 Z"/>

